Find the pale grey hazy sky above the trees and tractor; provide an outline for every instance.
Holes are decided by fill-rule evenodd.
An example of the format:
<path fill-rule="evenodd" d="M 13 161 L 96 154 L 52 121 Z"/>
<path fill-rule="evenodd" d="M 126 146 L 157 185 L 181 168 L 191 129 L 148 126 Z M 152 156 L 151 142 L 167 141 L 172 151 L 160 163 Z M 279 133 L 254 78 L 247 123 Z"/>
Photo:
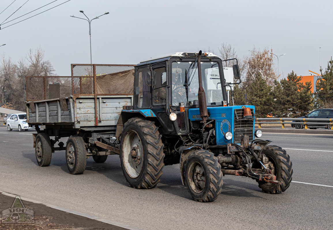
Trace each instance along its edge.
<path fill-rule="evenodd" d="M 85 18 L 79 12 L 83 10 L 89 19 L 110 12 L 91 23 L 93 64 L 138 64 L 208 48 L 217 54 L 226 43 L 239 57 L 253 47 L 286 54 L 279 58 L 279 73 L 286 78 L 291 71 L 302 76 L 308 76 L 308 70 L 319 73 L 320 60 L 325 69 L 333 56 L 333 1 L 53 1 L 0 0 L 0 12 L 12 3 L 0 14 L 0 22 L 24 4 L 1 23 L 0 45 L 6 45 L 0 54 L 17 62 L 30 49 L 41 48 L 55 74 L 70 76 L 71 64 L 90 64 L 89 23 L 70 17 Z M 275 56 L 274 66 L 277 72 Z"/>

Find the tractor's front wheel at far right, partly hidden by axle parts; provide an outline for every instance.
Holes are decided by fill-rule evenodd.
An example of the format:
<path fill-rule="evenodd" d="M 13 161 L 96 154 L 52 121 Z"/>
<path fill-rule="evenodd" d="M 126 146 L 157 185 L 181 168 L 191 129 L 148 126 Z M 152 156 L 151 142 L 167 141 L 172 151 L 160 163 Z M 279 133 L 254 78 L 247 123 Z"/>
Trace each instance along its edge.
<path fill-rule="evenodd" d="M 267 156 L 269 160 L 268 167 L 276 176 L 276 180 L 281 181 L 281 185 L 257 181 L 259 188 L 261 188 L 263 192 L 270 194 L 284 192 L 290 186 L 293 174 L 290 156 L 284 149 L 276 145 L 266 146 L 261 153 Z"/>

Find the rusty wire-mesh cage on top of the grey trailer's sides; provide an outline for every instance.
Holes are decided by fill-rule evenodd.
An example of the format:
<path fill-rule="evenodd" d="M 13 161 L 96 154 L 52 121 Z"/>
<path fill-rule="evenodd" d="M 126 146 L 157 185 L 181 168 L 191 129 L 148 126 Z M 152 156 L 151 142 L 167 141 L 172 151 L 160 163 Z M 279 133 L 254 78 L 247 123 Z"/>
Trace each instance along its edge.
<path fill-rule="evenodd" d="M 135 65 L 72 64 L 71 77 L 27 76 L 27 101 L 70 95 L 133 95 Z"/>

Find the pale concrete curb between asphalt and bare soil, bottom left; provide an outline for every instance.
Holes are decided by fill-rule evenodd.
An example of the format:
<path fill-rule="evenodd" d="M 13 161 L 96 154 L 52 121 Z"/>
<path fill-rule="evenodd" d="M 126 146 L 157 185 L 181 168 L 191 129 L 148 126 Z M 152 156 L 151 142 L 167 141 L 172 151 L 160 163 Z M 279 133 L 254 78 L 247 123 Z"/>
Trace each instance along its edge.
<path fill-rule="evenodd" d="M 1 190 L 0 190 L 0 192 L 2 194 L 6 195 L 6 196 L 11 196 L 11 197 L 16 197 L 17 196 L 17 195 L 7 193 L 7 192 L 1 191 Z M 87 217 L 89 219 L 101 221 L 101 222 L 106 223 L 106 224 L 112 224 L 112 225 L 115 225 L 115 226 L 118 226 L 118 227 L 130 229 L 130 230 L 142 230 L 140 228 L 131 227 L 131 226 L 128 226 L 126 224 L 114 222 L 112 220 L 102 219 L 102 218 L 99 218 L 97 216 L 92 216 L 92 215 L 89 215 L 89 214 L 85 214 L 85 213 L 82 213 L 82 212 L 77 212 L 77 211 L 67 209 L 67 208 L 62 208 L 62 207 L 52 205 L 52 204 L 46 204 L 46 203 L 43 203 L 43 202 L 40 202 L 40 201 L 37 201 L 37 200 L 32 200 L 32 199 L 29 199 L 29 198 L 25 198 L 25 197 L 22 197 L 22 196 L 20 196 L 20 198 L 24 201 L 28 201 L 28 202 L 32 202 L 32 203 L 36 203 L 36 204 L 43 204 L 43 205 L 45 205 L 47 207 L 50 207 L 50 208 L 54 208 L 54 209 L 64 211 L 64 212 L 69 212 L 69 213 L 72 213 L 72 214 L 75 214 L 75 215 L 78 215 L 78 216 Z"/>

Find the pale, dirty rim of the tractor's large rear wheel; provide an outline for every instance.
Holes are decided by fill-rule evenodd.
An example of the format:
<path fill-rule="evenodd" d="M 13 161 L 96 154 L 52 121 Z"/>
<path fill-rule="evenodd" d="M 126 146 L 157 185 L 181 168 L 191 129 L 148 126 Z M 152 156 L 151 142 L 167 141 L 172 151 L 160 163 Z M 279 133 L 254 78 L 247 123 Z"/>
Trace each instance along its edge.
<path fill-rule="evenodd" d="M 123 162 L 128 175 L 137 178 L 143 166 L 143 145 L 138 133 L 129 130 L 123 142 Z"/>

